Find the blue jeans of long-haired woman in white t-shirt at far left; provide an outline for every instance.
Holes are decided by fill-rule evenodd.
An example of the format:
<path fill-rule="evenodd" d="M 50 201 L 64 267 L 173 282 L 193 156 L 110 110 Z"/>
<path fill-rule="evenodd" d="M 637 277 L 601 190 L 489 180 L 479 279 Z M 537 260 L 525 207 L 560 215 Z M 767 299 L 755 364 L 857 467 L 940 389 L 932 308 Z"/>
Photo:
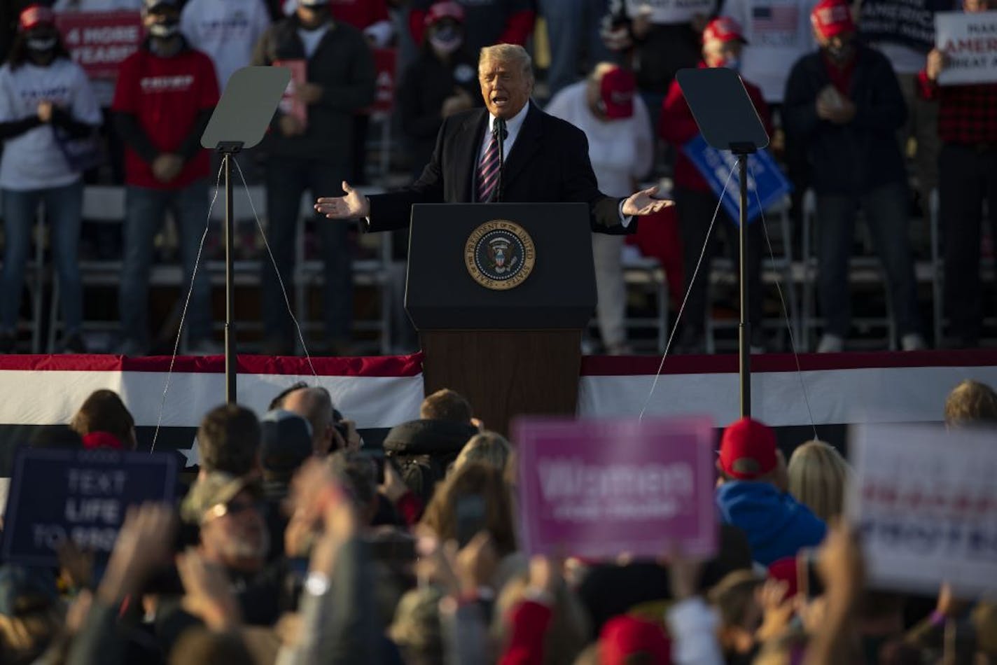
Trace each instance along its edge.
<path fill-rule="evenodd" d="M 7 246 L 3 258 L 3 295 L 0 299 L 0 324 L 5 332 L 14 332 L 21 309 L 24 269 L 31 246 L 31 229 L 38 204 L 45 204 L 51 225 L 52 256 L 59 276 L 63 322 L 66 335 L 80 332 L 83 321 L 83 285 L 77 248 L 83 213 L 83 181 L 51 189 L 3 190 L 3 217 Z"/>

